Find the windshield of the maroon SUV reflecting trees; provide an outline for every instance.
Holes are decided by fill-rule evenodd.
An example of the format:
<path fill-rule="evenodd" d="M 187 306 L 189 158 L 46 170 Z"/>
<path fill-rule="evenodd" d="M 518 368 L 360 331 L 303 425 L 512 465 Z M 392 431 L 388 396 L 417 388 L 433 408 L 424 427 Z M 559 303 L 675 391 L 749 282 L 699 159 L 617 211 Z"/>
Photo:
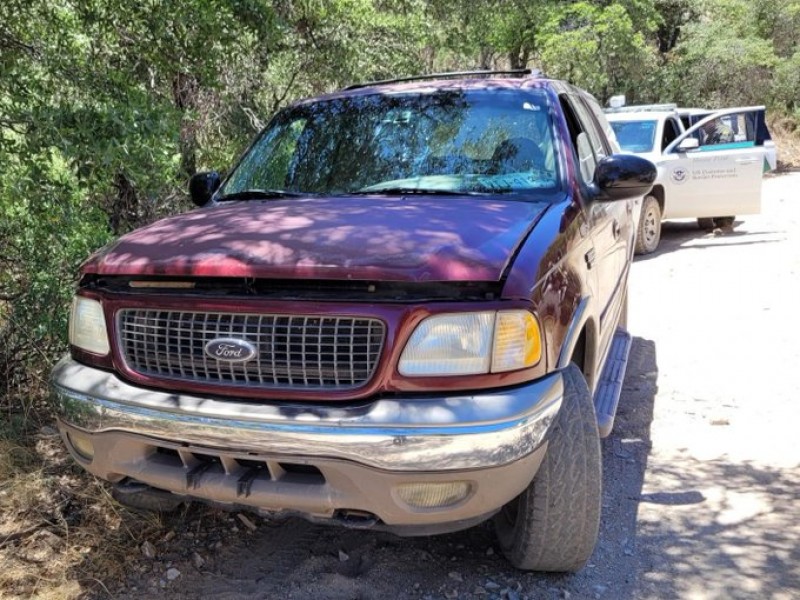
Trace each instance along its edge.
<path fill-rule="evenodd" d="M 530 194 L 558 189 L 556 174 L 542 91 L 374 94 L 279 113 L 218 199 L 258 191 Z"/>

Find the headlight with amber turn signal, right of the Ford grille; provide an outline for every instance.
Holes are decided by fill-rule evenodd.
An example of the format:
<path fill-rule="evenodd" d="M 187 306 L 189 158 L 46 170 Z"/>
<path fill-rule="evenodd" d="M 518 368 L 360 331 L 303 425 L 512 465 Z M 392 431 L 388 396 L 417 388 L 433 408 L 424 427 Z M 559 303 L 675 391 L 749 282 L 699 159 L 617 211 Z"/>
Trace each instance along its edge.
<path fill-rule="evenodd" d="M 479 375 L 532 367 L 541 357 L 539 323 L 528 311 L 456 313 L 422 321 L 398 370 L 410 377 Z"/>

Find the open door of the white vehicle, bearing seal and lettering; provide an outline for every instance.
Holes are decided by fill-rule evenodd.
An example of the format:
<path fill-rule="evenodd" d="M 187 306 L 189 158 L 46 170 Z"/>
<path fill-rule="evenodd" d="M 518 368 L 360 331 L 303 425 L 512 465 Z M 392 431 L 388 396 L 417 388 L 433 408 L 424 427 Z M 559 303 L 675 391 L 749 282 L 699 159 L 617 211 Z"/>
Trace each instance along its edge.
<path fill-rule="evenodd" d="M 759 139 L 763 106 L 717 111 L 678 136 L 664 151 L 666 218 L 723 217 L 761 212 L 766 159 Z M 694 138 L 698 147 L 680 149 Z"/>

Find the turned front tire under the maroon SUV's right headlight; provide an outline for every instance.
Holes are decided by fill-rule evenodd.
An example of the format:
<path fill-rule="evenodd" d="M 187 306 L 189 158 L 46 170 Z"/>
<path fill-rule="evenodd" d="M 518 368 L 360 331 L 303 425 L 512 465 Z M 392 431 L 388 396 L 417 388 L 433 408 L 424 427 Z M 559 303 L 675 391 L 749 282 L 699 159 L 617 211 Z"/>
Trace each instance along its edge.
<path fill-rule="evenodd" d="M 602 459 L 592 397 L 580 369 L 564 372 L 564 401 L 533 481 L 495 517 L 503 553 L 518 569 L 578 571 L 600 527 Z"/>

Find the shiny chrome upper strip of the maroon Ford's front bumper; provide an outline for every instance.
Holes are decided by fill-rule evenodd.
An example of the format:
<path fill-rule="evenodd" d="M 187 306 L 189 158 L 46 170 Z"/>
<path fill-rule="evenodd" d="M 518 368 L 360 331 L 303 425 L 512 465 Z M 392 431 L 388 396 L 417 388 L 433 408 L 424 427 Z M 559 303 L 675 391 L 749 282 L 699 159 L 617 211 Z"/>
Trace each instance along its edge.
<path fill-rule="evenodd" d="M 498 467 L 534 452 L 561 406 L 554 373 L 505 391 L 358 405 L 221 400 L 136 387 L 64 358 L 53 370 L 60 420 L 249 453 L 317 456 L 402 472 Z"/>

